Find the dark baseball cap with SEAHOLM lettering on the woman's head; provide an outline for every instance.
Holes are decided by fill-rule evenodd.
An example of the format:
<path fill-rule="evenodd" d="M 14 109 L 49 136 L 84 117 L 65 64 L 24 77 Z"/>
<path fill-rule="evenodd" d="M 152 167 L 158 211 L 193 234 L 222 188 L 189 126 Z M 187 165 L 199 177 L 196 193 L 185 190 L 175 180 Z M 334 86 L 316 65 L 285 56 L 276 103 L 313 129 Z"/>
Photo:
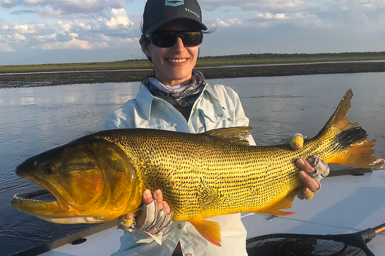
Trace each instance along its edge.
<path fill-rule="evenodd" d="M 143 13 L 143 32 L 151 34 L 175 19 L 194 20 L 201 30 L 207 30 L 202 23 L 202 12 L 197 0 L 147 0 Z"/>

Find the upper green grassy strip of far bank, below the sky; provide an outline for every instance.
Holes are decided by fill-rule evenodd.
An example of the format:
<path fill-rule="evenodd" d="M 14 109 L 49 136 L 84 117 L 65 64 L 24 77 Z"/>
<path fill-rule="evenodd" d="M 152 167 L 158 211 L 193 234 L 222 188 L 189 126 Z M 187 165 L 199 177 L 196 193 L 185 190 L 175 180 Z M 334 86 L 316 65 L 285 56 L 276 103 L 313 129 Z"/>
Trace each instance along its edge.
<path fill-rule="evenodd" d="M 226 56 L 200 57 L 199 67 L 225 66 L 225 65 L 255 65 L 276 63 L 307 63 L 327 61 L 361 61 L 385 60 L 385 52 L 356 52 L 356 53 L 317 53 L 317 54 L 240 54 Z M 43 65 L 12 65 L 0 66 L 0 73 L 26 73 L 26 72 L 52 72 L 52 71 L 84 71 L 84 70 L 125 70 L 125 69 L 151 69 L 152 65 L 147 59 L 124 60 L 113 62 L 89 63 L 59 63 Z"/>

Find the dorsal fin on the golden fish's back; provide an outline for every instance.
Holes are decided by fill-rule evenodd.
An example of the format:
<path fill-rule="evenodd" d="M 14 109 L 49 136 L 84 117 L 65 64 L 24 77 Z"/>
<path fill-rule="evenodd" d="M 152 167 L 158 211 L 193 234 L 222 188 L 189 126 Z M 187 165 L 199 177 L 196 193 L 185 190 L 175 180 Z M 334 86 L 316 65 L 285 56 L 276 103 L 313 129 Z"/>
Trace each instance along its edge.
<path fill-rule="evenodd" d="M 214 136 L 236 145 L 249 145 L 249 142 L 246 138 L 250 136 L 249 131 L 253 129 L 254 128 L 250 126 L 220 128 L 205 132 L 204 135 Z"/>

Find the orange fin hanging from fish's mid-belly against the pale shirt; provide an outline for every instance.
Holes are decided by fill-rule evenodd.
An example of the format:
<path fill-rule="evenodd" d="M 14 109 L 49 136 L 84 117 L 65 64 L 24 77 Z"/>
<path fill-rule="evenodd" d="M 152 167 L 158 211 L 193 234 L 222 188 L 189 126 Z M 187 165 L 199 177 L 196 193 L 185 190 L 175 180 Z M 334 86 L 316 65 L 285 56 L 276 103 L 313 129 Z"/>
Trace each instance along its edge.
<path fill-rule="evenodd" d="M 207 241 L 214 245 L 221 246 L 221 227 L 219 223 L 205 220 L 194 220 L 190 221 L 190 223 Z"/>

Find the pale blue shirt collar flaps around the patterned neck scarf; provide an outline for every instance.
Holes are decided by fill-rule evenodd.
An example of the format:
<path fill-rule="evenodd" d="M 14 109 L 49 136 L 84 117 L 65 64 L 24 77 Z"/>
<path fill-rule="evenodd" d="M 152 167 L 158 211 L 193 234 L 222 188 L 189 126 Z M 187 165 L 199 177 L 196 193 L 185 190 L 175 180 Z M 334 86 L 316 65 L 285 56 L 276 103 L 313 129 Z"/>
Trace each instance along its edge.
<path fill-rule="evenodd" d="M 214 100 L 217 100 L 219 102 L 219 99 L 214 95 L 213 90 L 211 90 L 211 87 L 209 86 L 209 84 L 206 83 L 206 86 L 203 89 L 201 95 L 196 100 L 196 103 L 197 103 L 197 101 L 201 100 L 204 92 L 208 93 L 211 97 L 213 97 Z M 149 118 L 150 118 L 151 104 L 152 104 L 152 101 L 154 99 L 168 103 L 165 100 L 162 100 L 162 99 L 159 99 L 159 98 L 152 96 L 150 90 L 148 90 L 147 87 L 143 87 L 139 91 L 139 93 L 137 94 L 137 104 L 138 104 L 140 110 L 142 111 L 142 113 L 144 114 L 144 116 L 147 118 L 147 120 L 149 120 Z M 194 105 L 196 105 L 196 103 Z"/>

